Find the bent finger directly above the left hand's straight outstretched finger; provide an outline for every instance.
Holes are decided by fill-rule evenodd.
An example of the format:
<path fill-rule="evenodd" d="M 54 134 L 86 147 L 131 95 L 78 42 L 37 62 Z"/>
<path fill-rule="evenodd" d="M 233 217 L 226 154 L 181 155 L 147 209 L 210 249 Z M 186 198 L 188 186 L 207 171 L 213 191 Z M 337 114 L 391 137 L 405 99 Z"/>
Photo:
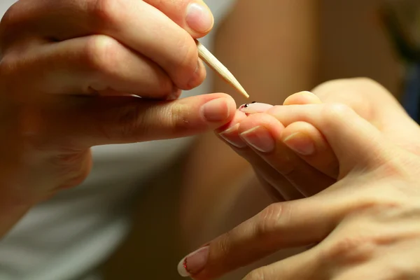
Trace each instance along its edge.
<path fill-rule="evenodd" d="M 33 97 L 34 90 L 48 94 L 112 90 L 165 99 L 179 91 L 157 64 L 104 35 L 43 45 L 5 63 L 10 65 L 8 82 Z M 19 83 L 22 76 L 27 77 L 26 83 Z"/>

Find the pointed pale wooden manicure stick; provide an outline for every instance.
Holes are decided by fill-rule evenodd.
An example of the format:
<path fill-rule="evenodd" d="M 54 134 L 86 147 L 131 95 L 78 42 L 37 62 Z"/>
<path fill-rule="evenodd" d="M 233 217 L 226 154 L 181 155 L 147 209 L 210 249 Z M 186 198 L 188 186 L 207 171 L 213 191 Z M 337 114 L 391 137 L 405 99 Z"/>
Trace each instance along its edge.
<path fill-rule="evenodd" d="M 204 45 L 202 45 L 202 43 L 200 43 L 198 40 L 195 40 L 195 43 L 197 43 L 198 55 L 200 58 L 206 62 L 206 64 L 209 65 L 211 69 L 218 73 L 221 78 L 228 82 L 228 84 L 232 85 L 232 87 L 234 87 L 239 93 L 244 95 L 244 97 L 249 98 L 249 94 L 246 93 L 244 87 L 242 87 L 235 76 L 230 73 L 228 68 L 219 62 L 218 59 L 214 57 L 214 55 L 212 55 L 211 52 L 209 52 L 209 50 L 204 47 Z"/>

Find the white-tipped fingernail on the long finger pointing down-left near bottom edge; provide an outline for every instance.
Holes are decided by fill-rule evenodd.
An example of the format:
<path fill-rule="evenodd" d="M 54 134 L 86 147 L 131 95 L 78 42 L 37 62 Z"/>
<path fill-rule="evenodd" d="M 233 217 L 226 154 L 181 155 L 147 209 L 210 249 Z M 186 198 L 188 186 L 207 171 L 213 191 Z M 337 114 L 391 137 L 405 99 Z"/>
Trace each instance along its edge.
<path fill-rule="evenodd" d="M 209 246 L 198 249 L 190 253 L 181 260 L 178 264 L 178 273 L 183 277 L 188 277 L 197 274 L 204 269 L 209 257 Z"/>

